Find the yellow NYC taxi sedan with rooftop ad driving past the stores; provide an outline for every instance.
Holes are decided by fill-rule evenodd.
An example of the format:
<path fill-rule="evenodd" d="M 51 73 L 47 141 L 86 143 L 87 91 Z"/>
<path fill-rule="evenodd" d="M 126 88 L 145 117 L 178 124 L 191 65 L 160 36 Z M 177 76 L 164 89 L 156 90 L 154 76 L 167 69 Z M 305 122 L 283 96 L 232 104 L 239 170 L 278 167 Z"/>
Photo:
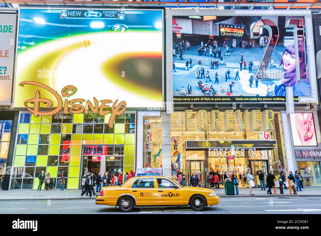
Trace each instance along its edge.
<path fill-rule="evenodd" d="M 190 205 L 194 211 L 216 205 L 220 198 L 207 188 L 183 187 L 165 176 L 137 176 L 120 186 L 103 187 L 96 204 L 119 206 L 123 212 L 134 206 Z"/>

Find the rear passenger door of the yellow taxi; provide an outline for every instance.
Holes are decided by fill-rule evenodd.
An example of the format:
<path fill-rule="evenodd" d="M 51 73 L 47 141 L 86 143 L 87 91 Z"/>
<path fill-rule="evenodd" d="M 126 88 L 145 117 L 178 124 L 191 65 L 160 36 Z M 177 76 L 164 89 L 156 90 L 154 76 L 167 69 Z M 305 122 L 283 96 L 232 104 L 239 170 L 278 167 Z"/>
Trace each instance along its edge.
<path fill-rule="evenodd" d="M 130 193 L 136 198 L 136 205 L 157 205 L 157 191 L 153 178 L 136 179 Z"/>

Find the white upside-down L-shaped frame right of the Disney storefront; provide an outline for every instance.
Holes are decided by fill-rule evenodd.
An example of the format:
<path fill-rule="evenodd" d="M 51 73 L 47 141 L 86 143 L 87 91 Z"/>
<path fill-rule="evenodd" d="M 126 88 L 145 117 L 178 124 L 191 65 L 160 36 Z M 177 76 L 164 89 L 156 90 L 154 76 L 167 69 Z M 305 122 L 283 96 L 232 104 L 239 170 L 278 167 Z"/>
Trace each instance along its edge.
<path fill-rule="evenodd" d="M 143 168 L 144 117 L 160 117 L 160 111 L 137 111 L 136 169 Z"/>

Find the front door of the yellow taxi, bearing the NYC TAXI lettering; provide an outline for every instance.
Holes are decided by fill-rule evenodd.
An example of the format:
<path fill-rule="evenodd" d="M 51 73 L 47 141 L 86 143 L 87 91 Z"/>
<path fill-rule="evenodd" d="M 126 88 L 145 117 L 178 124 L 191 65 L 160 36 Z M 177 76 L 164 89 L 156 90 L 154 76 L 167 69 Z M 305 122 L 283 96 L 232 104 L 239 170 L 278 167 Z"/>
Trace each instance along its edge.
<path fill-rule="evenodd" d="M 168 179 L 157 178 L 157 205 L 182 205 L 183 189 Z"/>

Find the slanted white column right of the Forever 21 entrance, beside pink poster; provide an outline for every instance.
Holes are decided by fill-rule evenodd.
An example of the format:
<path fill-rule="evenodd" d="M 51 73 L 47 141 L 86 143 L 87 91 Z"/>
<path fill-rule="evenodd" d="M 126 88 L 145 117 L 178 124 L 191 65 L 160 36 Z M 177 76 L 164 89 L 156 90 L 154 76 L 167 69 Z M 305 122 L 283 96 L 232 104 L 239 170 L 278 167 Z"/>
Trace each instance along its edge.
<path fill-rule="evenodd" d="M 288 168 L 287 171 L 292 171 L 294 173 L 294 170 L 296 170 L 296 162 L 294 157 L 291 123 L 290 117 L 286 114 L 286 111 L 281 111 L 281 122 L 283 129 L 285 158 Z"/>

